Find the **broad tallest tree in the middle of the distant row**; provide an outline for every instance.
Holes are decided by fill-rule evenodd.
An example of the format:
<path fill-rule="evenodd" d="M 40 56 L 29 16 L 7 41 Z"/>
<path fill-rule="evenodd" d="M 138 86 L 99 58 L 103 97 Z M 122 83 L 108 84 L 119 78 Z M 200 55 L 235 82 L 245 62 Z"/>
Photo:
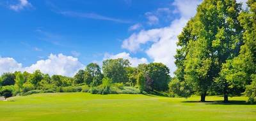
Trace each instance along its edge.
<path fill-rule="evenodd" d="M 108 59 L 103 61 L 102 70 L 104 77 L 113 80 L 113 83 L 128 82 L 127 72 L 125 68 L 130 65 L 127 59 Z"/>

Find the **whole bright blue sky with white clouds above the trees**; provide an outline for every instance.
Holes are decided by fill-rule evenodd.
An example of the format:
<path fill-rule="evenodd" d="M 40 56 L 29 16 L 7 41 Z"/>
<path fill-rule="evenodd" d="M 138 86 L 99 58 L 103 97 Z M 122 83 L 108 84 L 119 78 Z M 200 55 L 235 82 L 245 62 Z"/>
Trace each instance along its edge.
<path fill-rule="evenodd" d="M 172 75 L 177 35 L 200 2 L 1 0 L 0 73 L 72 76 L 90 62 L 123 57 L 132 66 L 163 62 Z"/>

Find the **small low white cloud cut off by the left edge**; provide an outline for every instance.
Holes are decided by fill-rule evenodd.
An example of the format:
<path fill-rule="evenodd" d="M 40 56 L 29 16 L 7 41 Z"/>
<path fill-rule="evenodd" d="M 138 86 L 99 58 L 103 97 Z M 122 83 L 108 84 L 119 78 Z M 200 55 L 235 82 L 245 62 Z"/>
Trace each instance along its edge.
<path fill-rule="evenodd" d="M 22 64 L 10 57 L 0 57 L 0 75 L 6 72 L 20 71 Z"/>

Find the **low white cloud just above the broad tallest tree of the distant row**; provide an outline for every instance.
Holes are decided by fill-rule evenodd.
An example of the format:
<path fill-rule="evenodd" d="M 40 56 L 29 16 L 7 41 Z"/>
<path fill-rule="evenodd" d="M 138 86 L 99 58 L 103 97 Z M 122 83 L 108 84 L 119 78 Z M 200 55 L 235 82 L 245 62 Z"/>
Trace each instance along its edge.
<path fill-rule="evenodd" d="M 138 66 L 138 64 L 147 64 L 148 60 L 144 57 L 138 59 L 137 57 L 131 57 L 130 53 L 122 52 L 118 53 L 116 55 L 105 53 L 104 59 L 118 59 L 118 58 L 123 58 L 123 59 L 128 59 L 131 62 L 132 67 Z"/>

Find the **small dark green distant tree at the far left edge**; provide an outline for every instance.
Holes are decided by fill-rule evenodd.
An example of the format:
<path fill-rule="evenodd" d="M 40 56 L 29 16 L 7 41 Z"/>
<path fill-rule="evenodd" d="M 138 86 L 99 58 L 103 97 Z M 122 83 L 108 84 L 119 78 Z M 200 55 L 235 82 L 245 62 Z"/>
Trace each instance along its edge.
<path fill-rule="evenodd" d="M 4 73 L 1 76 L 1 85 L 14 85 L 15 84 L 15 75 L 13 73 Z"/>

